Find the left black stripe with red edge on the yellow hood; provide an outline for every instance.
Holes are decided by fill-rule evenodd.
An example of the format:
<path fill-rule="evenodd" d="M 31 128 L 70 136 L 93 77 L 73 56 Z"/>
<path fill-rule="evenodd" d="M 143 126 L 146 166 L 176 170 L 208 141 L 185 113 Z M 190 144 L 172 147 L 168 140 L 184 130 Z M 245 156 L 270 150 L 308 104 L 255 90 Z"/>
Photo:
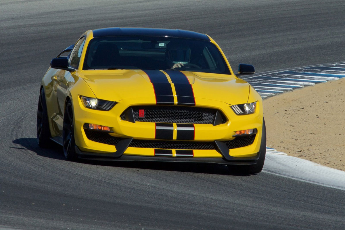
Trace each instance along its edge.
<path fill-rule="evenodd" d="M 142 70 L 149 77 L 156 97 L 156 104 L 174 104 L 171 84 L 165 74 L 159 70 Z"/>

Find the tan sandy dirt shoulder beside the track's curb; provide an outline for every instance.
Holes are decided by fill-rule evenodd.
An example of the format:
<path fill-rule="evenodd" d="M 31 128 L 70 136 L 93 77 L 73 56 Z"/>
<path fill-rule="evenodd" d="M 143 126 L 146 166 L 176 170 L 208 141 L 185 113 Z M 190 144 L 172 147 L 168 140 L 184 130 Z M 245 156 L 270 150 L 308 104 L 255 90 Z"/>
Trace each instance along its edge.
<path fill-rule="evenodd" d="M 267 146 L 345 171 L 345 78 L 265 99 Z"/>

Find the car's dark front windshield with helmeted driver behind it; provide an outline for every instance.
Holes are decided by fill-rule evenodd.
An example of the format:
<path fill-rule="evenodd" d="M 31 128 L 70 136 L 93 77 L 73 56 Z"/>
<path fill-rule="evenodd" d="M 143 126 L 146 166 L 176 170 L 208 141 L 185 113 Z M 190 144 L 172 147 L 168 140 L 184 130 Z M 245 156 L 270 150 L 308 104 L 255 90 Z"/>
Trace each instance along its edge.
<path fill-rule="evenodd" d="M 169 37 L 99 37 L 88 45 L 84 70 L 160 69 L 230 74 L 209 41 Z M 176 65 L 175 65 L 176 66 Z"/>

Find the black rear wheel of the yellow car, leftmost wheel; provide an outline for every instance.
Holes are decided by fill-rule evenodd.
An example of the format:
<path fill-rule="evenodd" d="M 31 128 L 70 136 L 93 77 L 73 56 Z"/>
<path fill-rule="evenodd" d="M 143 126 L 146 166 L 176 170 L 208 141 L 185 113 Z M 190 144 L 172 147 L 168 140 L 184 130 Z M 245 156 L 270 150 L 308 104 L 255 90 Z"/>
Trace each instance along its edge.
<path fill-rule="evenodd" d="M 37 107 L 37 144 L 41 148 L 48 148 L 52 144 L 47 113 L 46 96 L 43 88 L 40 92 Z"/>

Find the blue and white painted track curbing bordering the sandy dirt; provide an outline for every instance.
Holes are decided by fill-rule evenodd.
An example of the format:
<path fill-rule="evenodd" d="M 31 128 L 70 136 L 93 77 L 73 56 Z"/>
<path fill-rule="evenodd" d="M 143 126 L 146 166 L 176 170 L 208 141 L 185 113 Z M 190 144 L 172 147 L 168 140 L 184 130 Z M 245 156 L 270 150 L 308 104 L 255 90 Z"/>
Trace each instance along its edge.
<path fill-rule="evenodd" d="M 320 82 L 339 80 L 345 77 L 345 62 L 301 67 L 294 70 L 263 73 L 243 77 L 265 99 L 279 93 L 293 91 Z M 326 187 L 345 190 L 345 172 L 305 159 L 287 156 L 266 147 L 264 172 Z"/>

